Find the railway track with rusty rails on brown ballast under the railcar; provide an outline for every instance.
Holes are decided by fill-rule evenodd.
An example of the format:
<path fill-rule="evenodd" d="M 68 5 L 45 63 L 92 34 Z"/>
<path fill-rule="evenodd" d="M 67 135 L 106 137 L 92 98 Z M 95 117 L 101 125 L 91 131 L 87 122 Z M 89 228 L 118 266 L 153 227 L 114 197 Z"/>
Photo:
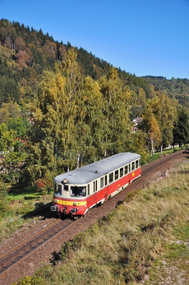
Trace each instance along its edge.
<path fill-rule="evenodd" d="M 56 248 L 56 250 L 59 249 L 58 246 L 51 249 L 49 244 L 54 245 L 56 244 L 56 241 L 63 244 L 63 242 L 71 239 L 71 237 L 74 237 L 76 234 L 78 234 L 78 232 L 82 232 L 90 227 L 90 225 L 96 222 L 100 217 L 104 217 L 104 215 L 108 214 L 108 212 L 111 212 L 113 208 L 116 207 L 118 202 L 123 201 L 126 195 L 128 195 L 128 192 L 137 189 L 137 187 L 141 187 L 142 184 L 145 185 L 146 180 L 143 179 L 143 177 L 150 175 L 150 173 L 155 172 L 159 168 L 163 168 L 163 165 L 168 165 L 168 162 L 175 160 L 177 157 L 180 157 L 180 155 L 183 155 L 183 153 L 183 151 L 175 152 L 172 155 L 167 155 L 160 158 L 160 160 L 156 160 L 154 162 L 150 162 L 148 165 L 144 165 L 142 167 L 140 179 L 133 182 L 125 190 L 108 200 L 108 202 L 101 205 L 101 207 L 98 207 L 98 209 L 95 208 L 91 210 L 91 212 L 89 212 L 84 218 L 78 219 L 75 222 L 71 221 L 70 219 L 57 219 L 55 222 L 48 224 L 47 227 L 43 227 L 43 229 L 41 229 L 39 232 L 35 232 L 25 239 L 22 239 L 21 242 L 15 244 L 14 247 L 10 247 L 6 251 L 1 252 L 0 284 L 8 285 L 11 284 L 11 282 L 19 279 L 19 274 L 22 272 L 22 266 L 23 272 L 26 274 L 24 264 L 31 264 L 31 260 L 34 261 L 35 258 L 42 259 L 44 248 L 46 249 L 46 252 L 48 252 L 49 260 L 54 248 Z M 185 156 L 188 156 L 188 154 L 185 154 Z M 29 271 L 29 274 L 31 274 L 31 271 Z"/>

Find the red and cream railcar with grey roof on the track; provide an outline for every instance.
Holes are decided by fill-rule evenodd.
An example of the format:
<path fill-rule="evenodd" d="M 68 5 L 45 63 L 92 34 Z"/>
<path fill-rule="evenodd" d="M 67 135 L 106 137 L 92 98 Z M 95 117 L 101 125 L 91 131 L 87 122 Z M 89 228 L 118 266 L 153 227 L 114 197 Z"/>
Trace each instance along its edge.
<path fill-rule="evenodd" d="M 54 179 L 52 211 L 81 216 L 118 194 L 141 176 L 141 156 L 121 152 Z"/>

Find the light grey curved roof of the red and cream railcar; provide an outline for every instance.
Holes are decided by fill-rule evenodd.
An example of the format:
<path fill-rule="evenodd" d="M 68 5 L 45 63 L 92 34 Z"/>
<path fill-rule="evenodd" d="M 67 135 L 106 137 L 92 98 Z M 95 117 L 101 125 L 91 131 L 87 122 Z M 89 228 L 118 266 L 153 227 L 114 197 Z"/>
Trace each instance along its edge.
<path fill-rule="evenodd" d="M 90 165 L 80 167 L 76 170 L 58 175 L 54 178 L 54 182 L 60 183 L 64 178 L 68 180 L 68 184 L 81 185 L 90 181 L 96 180 L 102 175 L 106 175 L 108 172 L 116 170 L 123 165 L 127 165 L 133 160 L 137 160 L 141 156 L 132 152 L 121 152 L 117 155 L 98 160 Z"/>

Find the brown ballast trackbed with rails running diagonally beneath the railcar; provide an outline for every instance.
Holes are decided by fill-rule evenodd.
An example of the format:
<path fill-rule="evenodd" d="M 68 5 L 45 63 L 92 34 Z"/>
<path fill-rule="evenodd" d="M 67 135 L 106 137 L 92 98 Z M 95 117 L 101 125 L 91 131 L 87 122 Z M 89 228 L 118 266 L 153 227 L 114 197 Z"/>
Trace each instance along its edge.
<path fill-rule="evenodd" d="M 29 235 L 29 231 L 23 233 L 19 237 L 21 242 L 16 244 L 14 240 L 17 239 L 13 239 L 12 244 L 14 246 L 4 249 L 4 252 L 2 252 L 1 247 L 0 284 L 12 284 L 23 276 L 34 274 L 42 264 L 49 264 L 51 261 L 58 260 L 58 253 L 61 251 L 64 242 L 73 239 L 80 232 L 86 231 L 99 219 L 107 217 L 118 204 L 126 199 L 130 192 L 138 188 L 145 189 L 150 182 L 155 180 L 155 177 L 164 175 L 165 171 L 183 162 L 188 158 L 188 155 L 188 152 L 181 150 L 150 162 L 142 167 L 141 177 L 138 180 L 100 207 L 92 209 L 85 217 L 76 219 L 74 222 L 70 219 L 56 219 L 55 222 L 48 221 L 48 226 L 33 232 L 32 235 Z M 37 227 L 37 225 L 35 226 Z"/>

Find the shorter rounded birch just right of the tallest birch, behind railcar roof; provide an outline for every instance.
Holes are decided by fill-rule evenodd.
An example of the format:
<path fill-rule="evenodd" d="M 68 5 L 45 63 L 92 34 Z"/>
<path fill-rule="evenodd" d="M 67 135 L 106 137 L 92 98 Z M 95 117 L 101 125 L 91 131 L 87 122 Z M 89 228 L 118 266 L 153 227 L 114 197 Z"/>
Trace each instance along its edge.
<path fill-rule="evenodd" d="M 81 133 L 79 145 L 84 160 L 91 162 L 102 157 L 106 132 L 106 118 L 103 115 L 104 101 L 97 81 L 87 76 L 76 99 L 78 106 L 78 128 Z"/>

